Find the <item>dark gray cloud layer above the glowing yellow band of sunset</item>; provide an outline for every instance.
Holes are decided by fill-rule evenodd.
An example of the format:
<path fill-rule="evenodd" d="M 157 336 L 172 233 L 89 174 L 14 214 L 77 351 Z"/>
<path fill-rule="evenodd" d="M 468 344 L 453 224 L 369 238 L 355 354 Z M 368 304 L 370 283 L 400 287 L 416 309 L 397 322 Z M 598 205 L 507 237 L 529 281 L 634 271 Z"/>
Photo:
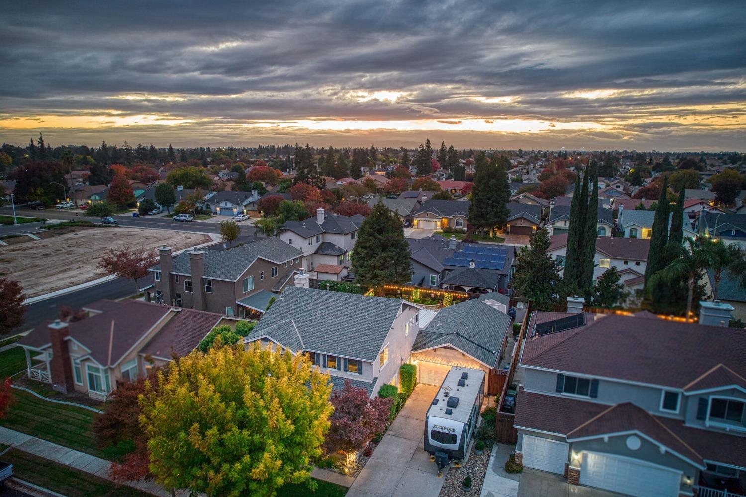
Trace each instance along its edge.
<path fill-rule="evenodd" d="M 742 0 L 12 2 L 0 116 L 654 121 L 716 105 L 743 117 L 745 16 Z M 596 89 L 619 92 L 568 96 Z M 178 99 L 113 98 L 132 94 Z"/>

